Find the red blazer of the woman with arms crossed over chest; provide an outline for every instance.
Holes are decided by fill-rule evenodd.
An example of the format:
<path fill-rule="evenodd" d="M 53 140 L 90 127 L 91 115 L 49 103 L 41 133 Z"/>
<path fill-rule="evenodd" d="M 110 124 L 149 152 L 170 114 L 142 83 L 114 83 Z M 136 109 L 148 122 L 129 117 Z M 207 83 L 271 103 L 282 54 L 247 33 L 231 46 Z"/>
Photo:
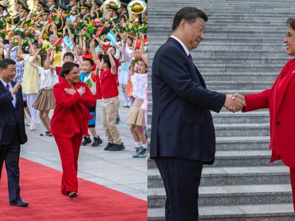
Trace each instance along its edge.
<path fill-rule="evenodd" d="M 78 92 L 74 95 L 65 93 L 64 88 L 71 88 L 71 86 L 64 79 L 54 85 L 56 108 L 50 128 L 53 136 L 71 138 L 75 133 L 88 135 L 88 120 L 91 115 L 87 107 L 95 105 L 95 98 L 86 83 L 79 82 L 74 87 L 77 90 L 81 85 L 86 88 L 82 96 Z"/>

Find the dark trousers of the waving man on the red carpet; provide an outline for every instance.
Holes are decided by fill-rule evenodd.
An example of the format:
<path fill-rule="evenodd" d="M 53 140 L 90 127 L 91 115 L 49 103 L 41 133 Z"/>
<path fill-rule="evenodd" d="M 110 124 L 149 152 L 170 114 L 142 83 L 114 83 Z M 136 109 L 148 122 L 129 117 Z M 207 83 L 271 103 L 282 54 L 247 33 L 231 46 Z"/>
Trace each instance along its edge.
<path fill-rule="evenodd" d="M 13 131 L 12 131 L 13 133 Z M 20 169 L 19 169 L 19 159 L 20 159 L 20 138 L 17 125 L 14 129 L 13 139 L 9 144 L 0 144 L 0 178 L 3 162 L 5 161 L 5 167 L 7 172 L 8 180 L 8 192 L 9 201 L 14 199 L 21 199 L 20 197 Z"/>

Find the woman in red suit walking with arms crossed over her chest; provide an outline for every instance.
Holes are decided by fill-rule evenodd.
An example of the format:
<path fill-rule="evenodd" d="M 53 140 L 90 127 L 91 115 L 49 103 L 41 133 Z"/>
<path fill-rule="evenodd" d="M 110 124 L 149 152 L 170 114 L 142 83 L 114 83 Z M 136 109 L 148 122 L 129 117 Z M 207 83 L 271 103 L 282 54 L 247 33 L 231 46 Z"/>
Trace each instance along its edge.
<path fill-rule="evenodd" d="M 53 88 L 56 108 L 51 120 L 51 133 L 59 147 L 62 165 L 61 193 L 71 200 L 78 192 L 78 156 L 83 135 L 88 135 L 87 107 L 95 105 L 88 86 L 80 82 L 79 66 L 73 62 L 62 65 L 60 76 L 64 78 Z"/>

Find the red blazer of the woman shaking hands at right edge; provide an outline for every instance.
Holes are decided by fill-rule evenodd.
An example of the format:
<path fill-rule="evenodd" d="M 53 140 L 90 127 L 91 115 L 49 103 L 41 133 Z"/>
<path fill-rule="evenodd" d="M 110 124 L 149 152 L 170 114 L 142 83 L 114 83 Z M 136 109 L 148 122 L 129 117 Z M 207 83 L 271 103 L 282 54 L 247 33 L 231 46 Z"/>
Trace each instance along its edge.
<path fill-rule="evenodd" d="M 245 99 L 243 112 L 269 109 L 270 163 L 282 159 L 286 166 L 295 168 L 295 59 L 287 62 L 270 89 L 245 95 Z"/>

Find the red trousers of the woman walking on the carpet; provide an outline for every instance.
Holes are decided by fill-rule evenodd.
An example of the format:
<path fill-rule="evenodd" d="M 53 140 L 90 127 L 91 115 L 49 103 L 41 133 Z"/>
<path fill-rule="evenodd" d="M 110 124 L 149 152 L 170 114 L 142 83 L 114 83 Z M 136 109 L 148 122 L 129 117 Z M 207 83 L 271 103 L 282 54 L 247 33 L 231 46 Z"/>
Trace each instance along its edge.
<path fill-rule="evenodd" d="M 78 157 L 83 135 L 75 134 L 72 138 L 54 137 L 59 147 L 62 166 L 61 193 L 78 192 Z"/>

